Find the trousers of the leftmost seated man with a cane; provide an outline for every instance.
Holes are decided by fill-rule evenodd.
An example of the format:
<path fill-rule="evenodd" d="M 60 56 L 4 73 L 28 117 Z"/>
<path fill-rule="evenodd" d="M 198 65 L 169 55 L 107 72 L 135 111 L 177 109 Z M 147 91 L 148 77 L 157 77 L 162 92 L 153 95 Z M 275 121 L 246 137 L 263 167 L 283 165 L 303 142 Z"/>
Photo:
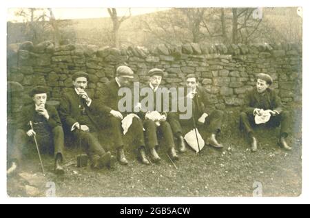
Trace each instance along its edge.
<path fill-rule="evenodd" d="M 49 155 L 54 154 L 55 159 L 57 155 L 61 155 L 63 159 L 64 135 L 61 126 L 55 127 L 52 131 L 47 131 L 47 135 L 37 133 L 36 137 L 40 152 Z M 23 155 L 37 152 L 34 137 L 28 137 L 24 130 L 17 130 L 14 135 L 13 146 L 12 159 L 17 161 L 21 161 Z"/>

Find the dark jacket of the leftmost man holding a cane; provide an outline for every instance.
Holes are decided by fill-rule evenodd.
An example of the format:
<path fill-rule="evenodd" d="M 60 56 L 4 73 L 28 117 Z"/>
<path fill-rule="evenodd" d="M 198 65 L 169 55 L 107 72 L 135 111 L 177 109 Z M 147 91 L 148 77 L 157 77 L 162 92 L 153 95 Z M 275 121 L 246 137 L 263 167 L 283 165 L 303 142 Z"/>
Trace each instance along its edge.
<path fill-rule="evenodd" d="M 30 130 L 30 121 L 36 122 L 42 121 L 47 128 L 52 130 L 57 126 L 61 126 L 61 119 L 59 119 L 59 115 L 57 110 L 53 106 L 45 105 L 45 109 L 48 110 L 48 115 L 50 115 L 50 119 L 46 120 L 42 115 L 38 115 L 38 112 L 35 110 L 34 103 L 29 106 L 24 106 L 21 110 L 21 115 L 19 117 L 18 128 L 21 130 L 25 130 L 26 132 Z"/>

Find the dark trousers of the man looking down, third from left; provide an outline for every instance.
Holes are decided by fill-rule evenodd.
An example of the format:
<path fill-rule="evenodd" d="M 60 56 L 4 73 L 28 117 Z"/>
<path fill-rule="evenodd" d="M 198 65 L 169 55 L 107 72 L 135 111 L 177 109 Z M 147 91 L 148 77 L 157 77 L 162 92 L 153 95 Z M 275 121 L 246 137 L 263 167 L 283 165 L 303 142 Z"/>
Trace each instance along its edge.
<path fill-rule="evenodd" d="M 123 141 L 123 128 L 122 122 L 120 119 L 109 116 L 110 128 L 112 130 L 112 139 L 114 140 L 114 146 L 116 149 L 123 148 L 125 143 Z M 145 139 L 143 133 L 143 123 L 141 119 L 134 117 L 132 119 L 132 126 L 130 126 L 127 134 L 130 134 L 134 137 L 134 149 L 145 148 Z"/>

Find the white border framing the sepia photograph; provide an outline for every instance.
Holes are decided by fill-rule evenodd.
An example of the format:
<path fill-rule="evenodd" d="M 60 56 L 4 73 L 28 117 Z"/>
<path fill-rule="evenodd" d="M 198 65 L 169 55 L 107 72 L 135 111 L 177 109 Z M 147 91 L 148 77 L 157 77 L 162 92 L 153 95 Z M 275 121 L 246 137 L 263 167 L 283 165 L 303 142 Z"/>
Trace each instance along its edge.
<path fill-rule="evenodd" d="M 1 76 L 3 79 L 0 81 L 0 99 L 2 107 L 0 107 L 0 123 L 1 123 L 1 143 L 0 143 L 0 203 L 1 204 L 303 204 L 309 203 L 309 101 L 307 101 L 307 94 L 309 93 L 309 27 L 310 27 L 310 7 L 309 1 L 273 1 L 273 0 L 260 0 L 260 1 L 179 1 L 179 0 L 157 0 L 157 1 L 80 1 L 76 0 L 54 0 L 54 1 L 39 1 L 39 0 L 11 0 L 3 1 L 0 11 L 1 23 Z M 57 199 L 12 199 L 8 198 L 6 194 L 6 13 L 8 8 L 170 8 L 170 7 L 295 7 L 302 6 L 304 14 L 304 37 L 303 37 L 303 151 L 302 151 L 302 170 L 303 170 L 303 187 L 302 196 L 298 198 L 57 198 Z"/>

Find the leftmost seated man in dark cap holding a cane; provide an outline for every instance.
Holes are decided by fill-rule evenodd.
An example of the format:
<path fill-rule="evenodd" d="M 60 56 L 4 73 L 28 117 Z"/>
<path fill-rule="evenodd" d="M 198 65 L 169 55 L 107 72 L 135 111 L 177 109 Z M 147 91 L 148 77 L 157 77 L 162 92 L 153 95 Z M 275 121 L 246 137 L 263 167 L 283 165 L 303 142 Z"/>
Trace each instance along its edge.
<path fill-rule="evenodd" d="M 14 135 L 13 162 L 16 165 L 21 164 L 22 155 L 26 155 L 30 151 L 37 152 L 34 143 L 35 136 L 41 152 L 54 153 L 55 173 L 62 175 L 65 172 L 61 166 L 64 138 L 58 112 L 54 107 L 45 105 L 48 99 L 47 88 L 37 86 L 31 91 L 31 97 L 34 103 L 23 107 L 18 130 Z"/>

